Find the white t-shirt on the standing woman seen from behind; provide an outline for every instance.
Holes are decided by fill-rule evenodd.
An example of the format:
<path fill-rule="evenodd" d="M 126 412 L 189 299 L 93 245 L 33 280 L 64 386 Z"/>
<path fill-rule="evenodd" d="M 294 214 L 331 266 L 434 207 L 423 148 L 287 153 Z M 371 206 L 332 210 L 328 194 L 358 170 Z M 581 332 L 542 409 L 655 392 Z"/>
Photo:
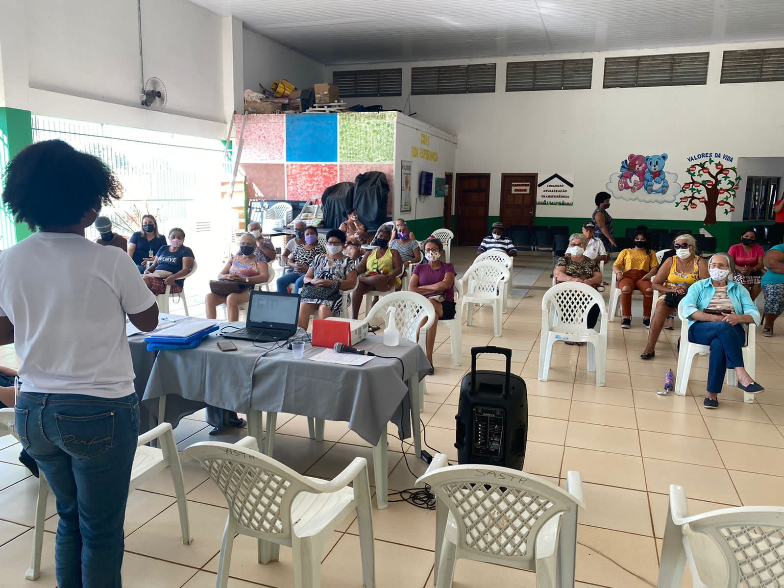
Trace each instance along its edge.
<path fill-rule="evenodd" d="M 36 233 L 0 254 L 0 279 L 22 390 L 133 393 L 125 314 L 147 310 L 155 297 L 127 253 L 78 234 Z"/>

